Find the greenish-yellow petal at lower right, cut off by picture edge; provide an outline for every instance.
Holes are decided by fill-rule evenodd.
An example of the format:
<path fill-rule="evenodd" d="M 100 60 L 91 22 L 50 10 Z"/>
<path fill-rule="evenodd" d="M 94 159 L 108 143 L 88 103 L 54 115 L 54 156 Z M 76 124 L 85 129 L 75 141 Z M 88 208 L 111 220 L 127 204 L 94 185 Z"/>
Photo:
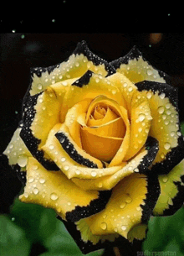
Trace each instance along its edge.
<path fill-rule="evenodd" d="M 181 208 L 184 201 L 184 160 L 168 175 L 159 175 L 161 195 L 156 202 L 154 215 L 172 215 Z"/>

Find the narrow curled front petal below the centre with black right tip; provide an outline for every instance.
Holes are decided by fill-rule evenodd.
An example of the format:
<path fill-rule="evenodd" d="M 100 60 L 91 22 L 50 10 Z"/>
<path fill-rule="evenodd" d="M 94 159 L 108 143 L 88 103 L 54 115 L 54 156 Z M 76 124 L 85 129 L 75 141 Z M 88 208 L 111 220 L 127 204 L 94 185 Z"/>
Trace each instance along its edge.
<path fill-rule="evenodd" d="M 84 190 L 110 190 L 120 180 L 123 180 L 127 175 L 134 173 L 150 174 L 151 170 L 148 167 L 156 158 L 158 152 L 158 142 L 156 138 L 149 137 L 141 152 L 131 159 L 129 162 L 123 162 L 120 170 L 117 170 L 112 175 L 106 175 L 104 177 L 97 178 L 95 180 L 83 180 L 79 178 L 73 178 L 72 180 L 76 185 L 79 185 Z M 108 170 L 108 168 L 106 168 Z"/>

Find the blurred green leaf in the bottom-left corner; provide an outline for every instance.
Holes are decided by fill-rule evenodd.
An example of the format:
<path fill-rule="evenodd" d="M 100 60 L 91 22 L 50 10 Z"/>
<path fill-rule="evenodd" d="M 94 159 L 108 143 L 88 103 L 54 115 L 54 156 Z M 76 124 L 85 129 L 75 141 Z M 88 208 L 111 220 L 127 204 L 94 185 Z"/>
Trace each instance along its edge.
<path fill-rule="evenodd" d="M 31 243 L 9 217 L 0 216 L 0 255 L 28 256 Z"/>

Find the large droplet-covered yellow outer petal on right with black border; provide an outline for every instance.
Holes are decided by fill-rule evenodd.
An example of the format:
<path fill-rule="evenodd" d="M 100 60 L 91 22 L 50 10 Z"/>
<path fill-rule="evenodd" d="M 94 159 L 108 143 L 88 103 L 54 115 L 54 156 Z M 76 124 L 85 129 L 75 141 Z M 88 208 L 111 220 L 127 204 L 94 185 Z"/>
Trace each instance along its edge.
<path fill-rule="evenodd" d="M 159 142 L 159 152 L 152 171 L 167 174 L 184 158 L 184 141 L 179 127 L 176 88 L 164 83 L 143 81 L 138 90 L 148 97 L 151 109 L 149 135 Z"/>

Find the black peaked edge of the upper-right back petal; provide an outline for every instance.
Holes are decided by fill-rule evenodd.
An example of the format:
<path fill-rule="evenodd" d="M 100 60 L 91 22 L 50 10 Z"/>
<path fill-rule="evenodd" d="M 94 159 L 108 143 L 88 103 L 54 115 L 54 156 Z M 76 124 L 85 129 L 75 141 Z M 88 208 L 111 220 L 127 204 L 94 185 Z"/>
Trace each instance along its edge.
<path fill-rule="evenodd" d="M 115 70 L 119 69 L 120 68 L 120 65 L 121 64 L 125 64 L 125 65 L 128 65 L 129 61 L 130 60 L 139 60 L 139 58 L 142 57 L 142 59 L 144 61 L 146 61 L 149 65 L 150 62 L 147 61 L 144 56 L 142 55 L 141 51 L 138 50 L 138 48 L 134 45 L 134 47 L 130 50 L 130 52 L 123 56 L 123 57 L 120 57 L 119 59 L 117 60 L 113 60 L 110 62 L 110 65 L 113 65 L 115 67 Z M 152 66 L 152 65 L 151 65 Z M 153 67 L 153 66 L 152 66 Z M 159 71 L 157 70 L 155 67 L 153 67 L 156 71 L 158 71 L 159 75 L 164 78 L 164 80 L 168 83 L 168 84 L 171 84 L 172 83 L 172 80 L 171 80 L 171 77 L 168 76 L 165 72 L 163 71 Z"/>

